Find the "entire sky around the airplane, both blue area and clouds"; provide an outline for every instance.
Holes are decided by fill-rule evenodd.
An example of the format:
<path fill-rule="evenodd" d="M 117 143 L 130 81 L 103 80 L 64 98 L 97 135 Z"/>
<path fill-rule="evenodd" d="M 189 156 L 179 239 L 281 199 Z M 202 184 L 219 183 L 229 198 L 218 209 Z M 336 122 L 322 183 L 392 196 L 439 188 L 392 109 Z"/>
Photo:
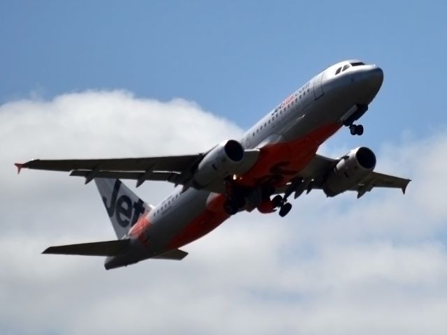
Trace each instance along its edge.
<path fill-rule="evenodd" d="M 447 329 L 445 1 L 0 1 L 1 334 L 425 334 Z M 114 239 L 93 183 L 29 158 L 205 151 L 323 68 L 383 86 L 322 151 L 413 179 L 237 214 L 182 262 L 105 271 L 47 246 Z M 132 183 L 126 183 L 133 188 Z M 134 189 L 134 188 L 133 188 Z M 156 203 L 167 183 L 136 190 Z"/>

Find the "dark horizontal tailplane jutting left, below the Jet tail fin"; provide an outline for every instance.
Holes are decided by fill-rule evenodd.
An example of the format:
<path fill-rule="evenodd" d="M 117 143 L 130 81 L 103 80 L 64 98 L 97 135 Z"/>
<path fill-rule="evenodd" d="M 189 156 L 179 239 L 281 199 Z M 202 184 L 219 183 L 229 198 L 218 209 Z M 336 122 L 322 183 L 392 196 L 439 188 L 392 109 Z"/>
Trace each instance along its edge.
<path fill-rule="evenodd" d="M 50 246 L 43 253 L 59 255 L 84 255 L 84 256 L 115 256 L 122 253 L 129 246 L 129 239 L 115 241 L 102 241 L 81 244 L 68 244 L 66 246 Z"/>

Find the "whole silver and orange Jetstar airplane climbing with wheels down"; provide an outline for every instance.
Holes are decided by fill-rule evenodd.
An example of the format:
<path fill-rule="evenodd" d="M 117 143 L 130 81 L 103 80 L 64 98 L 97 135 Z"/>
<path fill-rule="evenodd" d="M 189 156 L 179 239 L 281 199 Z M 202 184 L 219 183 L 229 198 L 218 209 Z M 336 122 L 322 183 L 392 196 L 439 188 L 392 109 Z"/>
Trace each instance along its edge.
<path fill-rule="evenodd" d="M 182 260 L 180 248 L 203 237 L 240 211 L 277 211 L 286 216 L 289 198 L 322 190 L 360 198 L 373 188 L 400 188 L 410 179 L 374 172 L 367 147 L 341 158 L 316 154 L 340 128 L 362 135 L 356 121 L 368 110 L 383 82 L 383 70 L 353 59 L 321 71 L 242 135 L 209 151 L 145 158 L 32 160 L 22 168 L 71 172 L 94 181 L 117 240 L 50 246 L 43 253 L 105 256 L 105 269 L 149 258 Z M 156 206 L 138 198 L 120 179 L 168 181 L 173 193 Z"/>

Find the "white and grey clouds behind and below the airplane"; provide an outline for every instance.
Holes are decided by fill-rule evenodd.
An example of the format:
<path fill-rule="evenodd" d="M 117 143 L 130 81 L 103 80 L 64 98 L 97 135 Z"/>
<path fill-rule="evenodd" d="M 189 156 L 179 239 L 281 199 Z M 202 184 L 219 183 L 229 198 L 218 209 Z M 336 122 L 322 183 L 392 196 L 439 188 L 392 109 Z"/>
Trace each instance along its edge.
<path fill-rule="evenodd" d="M 125 91 L 1 105 L 0 332 L 444 334 L 446 133 L 377 153 L 381 172 L 413 179 L 405 196 L 313 191 L 284 219 L 238 214 L 184 247 L 182 262 L 105 271 L 101 258 L 40 255 L 114 238 L 112 228 L 94 185 L 17 177 L 15 161 L 184 154 L 241 133 L 195 103 Z M 148 182 L 138 193 L 156 202 L 170 189 Z"/>

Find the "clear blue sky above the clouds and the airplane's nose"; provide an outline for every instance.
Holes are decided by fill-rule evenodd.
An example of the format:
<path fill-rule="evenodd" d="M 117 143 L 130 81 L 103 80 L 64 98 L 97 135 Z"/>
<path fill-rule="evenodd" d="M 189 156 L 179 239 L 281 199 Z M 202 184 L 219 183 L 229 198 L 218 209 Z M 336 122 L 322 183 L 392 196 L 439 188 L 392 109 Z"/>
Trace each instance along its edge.
<path fill-rule="evenodd" d="M 445 124 L 446 10 L 444 1 L 3 1 L 0 101 L 127 89 L 196 101 L 248 128 L 322 68 L 359 58 L 386 78 L 367 127 L 423 135 Z"/>

